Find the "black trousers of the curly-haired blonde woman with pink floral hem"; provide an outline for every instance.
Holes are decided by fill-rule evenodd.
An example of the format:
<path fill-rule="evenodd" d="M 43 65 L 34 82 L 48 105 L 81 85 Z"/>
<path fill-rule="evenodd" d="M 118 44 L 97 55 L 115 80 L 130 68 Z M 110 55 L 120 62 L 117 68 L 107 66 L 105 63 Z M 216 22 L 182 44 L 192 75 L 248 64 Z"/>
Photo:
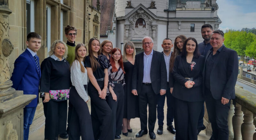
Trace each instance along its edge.
<path fill-rule="evenodd" d="M 42 101 L 44 101 L 44 97 L 42 97 Z M 67 100 L 50 100 L 43 103 L 43 106 L 45 116 L 44 139 L 52 140 L 59 134 L 66 132 L 68 103 Z"/>

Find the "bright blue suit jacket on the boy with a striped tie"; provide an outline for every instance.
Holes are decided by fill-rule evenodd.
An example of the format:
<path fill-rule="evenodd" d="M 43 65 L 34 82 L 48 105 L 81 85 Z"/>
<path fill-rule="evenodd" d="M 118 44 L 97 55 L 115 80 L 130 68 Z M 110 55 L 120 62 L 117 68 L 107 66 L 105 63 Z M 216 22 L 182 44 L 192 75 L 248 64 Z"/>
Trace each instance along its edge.
<path fill-rule="evenodd" d="M 39 62 L 39 58 L 37 57 Z M 38 64 L 39 65 L 39 64 Z M 14 62 L 14 69 L 12 73 L 12 88 L 16 90 L 23 90 L 23 94 L 33 94 L 36 98 L 33 99 L 26 107 L 36 107 L 38 103 L 39 81 L 41 77 L 41 70 L 37 70 L 36 61 L 32 54 L 25 50 Z"/>

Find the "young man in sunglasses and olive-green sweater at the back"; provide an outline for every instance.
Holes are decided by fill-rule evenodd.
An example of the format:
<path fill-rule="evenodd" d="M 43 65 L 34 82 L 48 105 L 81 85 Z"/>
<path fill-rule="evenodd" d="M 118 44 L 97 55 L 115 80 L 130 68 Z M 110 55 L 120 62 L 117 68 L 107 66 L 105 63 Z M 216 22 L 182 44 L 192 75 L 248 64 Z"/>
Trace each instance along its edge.
<path fill-rule="evenodd" d="M 72 62 L 75 60 L 75 48 L 76 48 L 76 34 L 77 29 L 73 26 L 67 25 L 65 27 L 65 36 L 68 39 L 67 46 L 68 46 L 68 57 L 67 61 L 69 62 L 69 65 L 71 66 Z"/>

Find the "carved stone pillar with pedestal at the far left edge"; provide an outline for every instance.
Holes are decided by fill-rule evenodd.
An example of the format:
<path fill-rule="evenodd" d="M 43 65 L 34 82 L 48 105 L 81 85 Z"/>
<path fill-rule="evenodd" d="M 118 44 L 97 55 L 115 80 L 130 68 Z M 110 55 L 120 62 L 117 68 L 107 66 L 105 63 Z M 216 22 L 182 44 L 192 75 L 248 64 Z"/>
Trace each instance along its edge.
<path fill-rule="evenodd" d="M 11 88 L 10 54 L 13 46 L 9 40 L 8 0 L 0 1 L 0 140 L 23 140 L 23 108 L 36 95 L 23 95 Z"/>

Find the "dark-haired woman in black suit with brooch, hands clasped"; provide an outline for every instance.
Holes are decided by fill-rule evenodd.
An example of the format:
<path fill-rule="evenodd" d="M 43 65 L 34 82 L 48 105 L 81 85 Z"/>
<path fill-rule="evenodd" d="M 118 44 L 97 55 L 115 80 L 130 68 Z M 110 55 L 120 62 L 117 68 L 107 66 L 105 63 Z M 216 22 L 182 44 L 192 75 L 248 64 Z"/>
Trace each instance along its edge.
<path fill-rule="evenodd" d="M 174 61 L 174 118 L 177 140 L 197 140 L 197 122 L 204 102 L 202 71 L 204 56 L 198 51 L 197 41 L 188 38 L 181 55 Z"/>

